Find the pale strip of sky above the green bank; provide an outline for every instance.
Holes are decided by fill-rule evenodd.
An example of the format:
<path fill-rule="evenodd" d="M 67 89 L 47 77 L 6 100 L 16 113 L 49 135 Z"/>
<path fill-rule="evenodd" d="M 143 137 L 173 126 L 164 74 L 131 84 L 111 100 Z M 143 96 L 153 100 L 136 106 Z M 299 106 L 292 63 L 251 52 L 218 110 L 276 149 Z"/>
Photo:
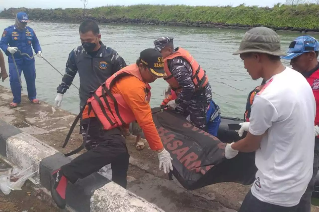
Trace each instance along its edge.
<path fill-rule="evenodd" d="M 186 4 L 186 5 L 206 5 L 206 6 L 237 6 L 245 3 L 246 5 L 258 5 L 272 7 L 274 4 L 284 3 L 285 0 L 87 0 L 87 8 L 100 7 L 106 5 L 132 5 L 132 4 Z M 83 7 L 80 0 L 0 0 L 0 9 L 10 7 L 26 7 L 26 8 L 78 8 Z"/>

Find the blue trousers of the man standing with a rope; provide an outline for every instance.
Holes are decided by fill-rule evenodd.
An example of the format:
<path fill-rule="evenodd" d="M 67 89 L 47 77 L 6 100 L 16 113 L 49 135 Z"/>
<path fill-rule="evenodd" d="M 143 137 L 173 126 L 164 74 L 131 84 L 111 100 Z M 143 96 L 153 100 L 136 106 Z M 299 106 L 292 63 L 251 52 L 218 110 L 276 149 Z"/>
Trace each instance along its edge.
<path fill-rule="evenodd" d="M 21 77 L 21 72 L 23 71 L 24 78 L 26 79 L 26 88 L 28 90 L 29 100 L 32 101 L 36 99 L 37 91 L 35 89 L 35 63 L 34 61 L 21 61 L 17 63 L 18 72 L 13 62 L 9 62 L 9 78 L 10 87 L 13 94 L 14 103 L 21 103 L 21 86 L 19 82 L 19 77 Z"/>

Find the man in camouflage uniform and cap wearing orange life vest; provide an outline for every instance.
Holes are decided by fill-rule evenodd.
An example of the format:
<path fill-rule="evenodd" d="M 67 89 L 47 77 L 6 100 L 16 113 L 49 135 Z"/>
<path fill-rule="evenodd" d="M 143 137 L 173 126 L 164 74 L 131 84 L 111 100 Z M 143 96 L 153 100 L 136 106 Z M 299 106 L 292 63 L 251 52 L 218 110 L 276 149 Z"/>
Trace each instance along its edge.
<path fill-rule="evenodd" d="M 165 81 L 177 93 L 177 98 L 167 103 L 185 117 L 190 116 L 194 126 L 206 130 L 206 109 L 211 102 L 211 86 L 204 69 L 185 49 L 174 49 L 173 39 L 159 38 L 155 49 L 164 57 Z"/>

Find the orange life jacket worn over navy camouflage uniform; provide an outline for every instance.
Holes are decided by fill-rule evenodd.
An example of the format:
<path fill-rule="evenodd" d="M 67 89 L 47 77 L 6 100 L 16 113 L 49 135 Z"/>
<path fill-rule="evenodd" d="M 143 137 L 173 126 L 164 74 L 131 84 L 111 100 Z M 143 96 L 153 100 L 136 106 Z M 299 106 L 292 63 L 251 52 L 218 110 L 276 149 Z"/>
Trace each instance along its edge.
<path fill-rule="evenodd" d="M 173 54 L 164 58 L 164 70 L 165 70 L 165 73 L 167 74 L 167 77 L 165 77 L 164 80 L 167 81 L 167 83 L 172 87 L 172 90 L 180 91 L 182 89 L 182 87 L 178 84 L 176 79 L 173 77 L 168 67 L 169 60 L 172 60 L 175 57 L 182 57 L 191 65 L 193 70 L 192 81 L 195 85 L 195 89 L 203 88 L 207 84 L 208 77 L 206 76 L 206 72 L 204 71 L 204 69 L 200 67 L 200 65 L 193 58 L 193 56 L 190 55 L 188 51 L 179 47 L 175 49 L 175 52 Z"/>

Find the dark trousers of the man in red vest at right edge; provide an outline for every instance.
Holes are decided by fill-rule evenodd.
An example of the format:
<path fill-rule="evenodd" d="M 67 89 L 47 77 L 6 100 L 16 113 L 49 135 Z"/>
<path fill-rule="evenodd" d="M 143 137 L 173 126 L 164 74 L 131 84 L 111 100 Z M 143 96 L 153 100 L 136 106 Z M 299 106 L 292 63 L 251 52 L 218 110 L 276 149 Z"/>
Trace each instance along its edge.
<path fill-rule="evenodd" d="M 305 193 L 302 195 L 299 204 L 297 205 L 296 212 L 310 212 L 311 211 L 311 194 L 315 188 L 316 175 L 318 172 L 318 150 L 315 150 L 314 155 L 314 172 L 308 184 Z"/>

